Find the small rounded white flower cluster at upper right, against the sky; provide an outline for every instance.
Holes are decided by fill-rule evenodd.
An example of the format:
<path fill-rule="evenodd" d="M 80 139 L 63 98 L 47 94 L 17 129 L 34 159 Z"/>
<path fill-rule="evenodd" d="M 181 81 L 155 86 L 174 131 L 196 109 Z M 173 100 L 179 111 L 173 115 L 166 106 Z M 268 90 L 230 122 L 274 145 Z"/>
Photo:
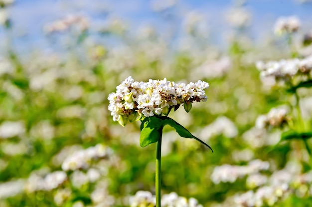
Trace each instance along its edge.
<path fill-rule="evenodd" d="M 300 28 L 300 20 L 297 16 L 280 17 L 274 25 L 274 32 L 278 35 L 293 33 Z"/>

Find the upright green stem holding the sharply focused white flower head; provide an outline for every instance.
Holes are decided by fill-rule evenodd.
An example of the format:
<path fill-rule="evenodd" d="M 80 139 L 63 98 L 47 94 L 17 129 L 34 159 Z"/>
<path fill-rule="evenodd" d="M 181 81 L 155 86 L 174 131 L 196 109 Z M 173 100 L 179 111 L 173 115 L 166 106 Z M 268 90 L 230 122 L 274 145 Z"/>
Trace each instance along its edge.
<path fill-rule="evenodd" d="M 157 142 L 157 151 L 156 151 L 156 207 L 161 207 L 160 205 L 160 164 L 161 164 L 161 136 L 162 136 L 162 128 L 159 129 L 159 140 Z"/>

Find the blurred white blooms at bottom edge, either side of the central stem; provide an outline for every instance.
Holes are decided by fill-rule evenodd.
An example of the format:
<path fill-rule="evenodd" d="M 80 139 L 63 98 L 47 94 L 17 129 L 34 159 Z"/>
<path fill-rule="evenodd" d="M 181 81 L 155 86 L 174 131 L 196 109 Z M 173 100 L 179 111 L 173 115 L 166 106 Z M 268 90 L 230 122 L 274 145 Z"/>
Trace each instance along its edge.
<path fill-rule="evenodd" d="M 131 207 L 154 207 L 156 198 L 148 191 L 138 191 L 134 197 L 130 198 Z M 186 199 L 179 197 L 175 192 L 164 194 L 161 197 L 161 207 L 202 207 L 194 198 Z"/>

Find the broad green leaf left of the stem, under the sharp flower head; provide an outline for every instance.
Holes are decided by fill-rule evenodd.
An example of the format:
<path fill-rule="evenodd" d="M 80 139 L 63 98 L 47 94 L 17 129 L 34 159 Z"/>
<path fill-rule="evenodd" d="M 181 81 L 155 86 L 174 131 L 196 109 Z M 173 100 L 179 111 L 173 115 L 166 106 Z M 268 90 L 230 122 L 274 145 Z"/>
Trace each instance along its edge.
<path fill-rule="evenodd" d="M 159 140 L 162 131 L 162 119 L 155 116 L 141 120 L 140 146 L 146 147 Z"/>

